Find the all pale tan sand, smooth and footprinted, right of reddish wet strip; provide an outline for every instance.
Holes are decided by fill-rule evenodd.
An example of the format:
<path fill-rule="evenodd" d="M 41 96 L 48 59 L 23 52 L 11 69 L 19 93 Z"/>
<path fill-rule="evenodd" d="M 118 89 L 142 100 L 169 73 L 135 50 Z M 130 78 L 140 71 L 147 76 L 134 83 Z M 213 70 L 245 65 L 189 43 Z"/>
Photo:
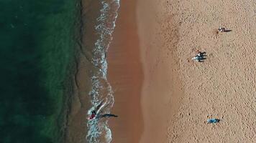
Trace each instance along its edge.
<path fill-rule="evenodd" d="M 150 120 L 150 114 L 155 114 L 150 109 L 155 100 L 146 95 L 152 94 L 159 100 L 169 96 L 170 102 L 163 100 L 162 105 L 155 105 L 166 104 L 166 108 L 172 107 L 172 97 L 179 96 L 178 112 L 174 116 L 170 114 L 168 127 L 160 131 L 168 142 L 256 142 L 255 1 L 154 2 L 157 12 L 144 18 L 155 19 L 155 31 L 146 30 L 154 26 L 145 29 L 139 26 L 142 60 L 150 60 L 142 61 L 145 81 L 150 81 L 145 83 L 142 92 L 146 101 L 142 102 L 145 119 Z M 138 19 L 142 18 L 140 14 L 143 13 L 138 13 Z M 146 20 L 142 20 L 141 25 L 146 24 Z M 232 31 L 216 34 L 219 26 Z M 162 43 L 157 44 L 159 37 Z M 190 60 L 197 49 L 206 51 L 207 59 L 203 63 Z M 178 75 L 182 81 L 181 87 L 175 83 L 174 88 L 183 90 L 180 95 L 173 95 L 169 92 L 173 89 L 164 88 L 168 82 L 177 82 L 170 81 L 173 68 L 169 63 L 173 54 L 178 59 Z M 157 76 L 165 76 L 165 80 L 152 78 Z M 152 93 L 157 87 L 167 90 Z M 163 109 L 157 112 L 165 114 Z M 206 124 L 206 119 L 211 117 L 221 122 Z M 145 129 L 158 123 L 150 120 Z M 146 132 L 155 134 L 156 131 Z M 142 141 L 150 142 L 155 139 L 152 137 L 145 134 Z"/>

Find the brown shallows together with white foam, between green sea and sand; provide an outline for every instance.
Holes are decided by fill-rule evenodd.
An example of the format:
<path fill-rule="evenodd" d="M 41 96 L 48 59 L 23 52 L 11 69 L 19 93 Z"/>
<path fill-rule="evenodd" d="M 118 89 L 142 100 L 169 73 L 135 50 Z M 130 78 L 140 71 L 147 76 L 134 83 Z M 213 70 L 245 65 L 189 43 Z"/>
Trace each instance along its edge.
<path fill-rule="evenodd" d="M 110 38 L 109 32 L 113 28 L 108 20 L 115 21 L 114 17 L 106 19 L 104 15 L 111 14 L 107 1 L 81 1 L 81 38 L 80 54 L 76 66 L 78 71 L 74 77 L 74 94 L 71 99 L 70 115 L 68 117 L 68 129 L 66 142 L 102 142 L 109 141 L 109 129 L 107 121 L 93 119 L 88 120 L 88 110 L 95 108 L 97 102 L 107 99 L 108 104 L 101 112 L 108 112 L 111 108 L 112 95 L 109 91 L 106 74 L 106 49 Z M 119 3 L 110 9 L 117 9 Z M 113 13 L 114 14 L 114 13 Z M 106 32 L 106 29 L 108 31 Z M 102 42 L 104 41 L 104 42 Z M 104 55 L 105 54 L 105 55 Z M 104 80 L 101 80 L 104 79 Z M 103 86 L 103 87 L 101 87 Z M 98 124 L 99 122 L 99 124 Z"/>

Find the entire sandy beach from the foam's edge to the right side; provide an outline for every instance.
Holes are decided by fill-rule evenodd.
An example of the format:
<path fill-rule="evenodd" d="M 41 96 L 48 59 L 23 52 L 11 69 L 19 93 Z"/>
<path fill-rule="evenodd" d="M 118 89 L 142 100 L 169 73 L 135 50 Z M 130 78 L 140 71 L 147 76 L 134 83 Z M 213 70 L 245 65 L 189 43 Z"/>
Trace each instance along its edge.
<path fill-rule="evenodd" d="M 121 1 L 113 142 L 255 142 L 255 22 L 254 1 Z"/>

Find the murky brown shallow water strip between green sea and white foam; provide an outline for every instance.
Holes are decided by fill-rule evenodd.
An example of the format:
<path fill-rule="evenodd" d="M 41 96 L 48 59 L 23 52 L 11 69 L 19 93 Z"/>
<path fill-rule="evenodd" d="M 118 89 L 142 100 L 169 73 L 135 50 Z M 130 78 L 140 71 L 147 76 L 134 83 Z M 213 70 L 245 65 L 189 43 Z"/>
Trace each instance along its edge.
<path fill-rule="evenodd" d="M 91 51 L 97 39 L 97 36 L 91 36 L 95 33 L 94 25 L 96 18 L 99 16 L 99 11 L 93 11 L 93 8 L 99 8 L 97 2 L 81 1 L 81 29 L 78 37 L 81 39 L 79 44 L 80 53 L 76 61 L 76 75 L 73 77 L 73 96 L 70 97 L 70 113 L 68 114 L 67 129 L 65 132 L 65 143 L 84 143 L 87 127 L 87 112 L 91 107 L 91 98 L 88 93 L 91 90 L 91 77 L 95 67 L 91 64 Z M 91 67 L 91 68 L 90 68 Z"/>

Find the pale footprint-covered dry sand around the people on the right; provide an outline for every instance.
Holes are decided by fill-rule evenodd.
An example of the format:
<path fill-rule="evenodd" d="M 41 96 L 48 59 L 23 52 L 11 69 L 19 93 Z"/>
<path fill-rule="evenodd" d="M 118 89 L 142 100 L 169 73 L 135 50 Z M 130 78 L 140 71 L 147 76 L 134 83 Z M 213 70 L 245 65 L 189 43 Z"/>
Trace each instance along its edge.
<path fill-rule="evenodd" d="M 169 142 L 256 142 L 255 1 L 165 2 L 179 25 L 177 55 L 184 98 Z M 225 26 L 229 33 L 216 35 Z M 193 50 L 204 63 L 187 61 Z M 221 119 L 206 124 L 206 119 Z"/>

